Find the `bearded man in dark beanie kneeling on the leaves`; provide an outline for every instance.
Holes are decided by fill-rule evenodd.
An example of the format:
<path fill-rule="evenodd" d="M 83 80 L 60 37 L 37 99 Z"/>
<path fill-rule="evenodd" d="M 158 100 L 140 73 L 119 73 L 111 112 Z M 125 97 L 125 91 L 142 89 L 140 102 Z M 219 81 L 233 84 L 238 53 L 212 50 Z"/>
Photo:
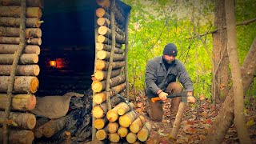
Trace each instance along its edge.
<path fill-rule="evenodd" d="M 187 91 L 187 102 L 195 102 L 193 83 L 183 63 L 175 59 L 177 54 L 177 47 L 169 43 L 165 46 L 162 56 L 152 58 L 146 64 L 146 96 L 150 107 L 147 112 L 153 121 L 162 121 L 162 101 L 166 100 L 167 93 L 181 93 L 182 86 Z M 176 78 L 182 86 L 176 82 Z M 154 97 L 159 97 L 162 101 L 151 102 L 150 99 Z M 171 100 L 171 122 L 174 122 L 181 100 L 181 97 Z"/>

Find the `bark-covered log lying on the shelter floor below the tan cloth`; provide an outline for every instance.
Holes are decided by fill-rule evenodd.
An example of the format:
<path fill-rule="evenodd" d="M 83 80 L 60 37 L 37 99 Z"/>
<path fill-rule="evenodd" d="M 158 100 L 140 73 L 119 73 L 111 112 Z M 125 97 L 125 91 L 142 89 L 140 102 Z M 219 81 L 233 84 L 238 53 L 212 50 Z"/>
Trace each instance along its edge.
<path fill-rule="evenodd" d="M 50 121 L 49 124 L 43 127 L 42 133 L 46 138 L 52 137 L 59 130 L 62 130 L 66 126 L 66 122 L 69 120 L 70 115 Z"/>

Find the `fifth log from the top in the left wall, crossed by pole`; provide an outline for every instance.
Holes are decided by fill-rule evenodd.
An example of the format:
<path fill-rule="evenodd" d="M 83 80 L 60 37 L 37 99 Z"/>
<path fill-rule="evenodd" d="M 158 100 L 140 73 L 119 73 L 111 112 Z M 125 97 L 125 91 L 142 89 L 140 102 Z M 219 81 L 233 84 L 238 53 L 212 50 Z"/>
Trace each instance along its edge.
<path fill-rule="evenodd" d="M 2 44 L 19 44 L 18 37 L 0 37 L 0 43 Z M 41 38 L 29 38 L 26 41 L 27 44 L 40 46 L 42 44 Z"/>

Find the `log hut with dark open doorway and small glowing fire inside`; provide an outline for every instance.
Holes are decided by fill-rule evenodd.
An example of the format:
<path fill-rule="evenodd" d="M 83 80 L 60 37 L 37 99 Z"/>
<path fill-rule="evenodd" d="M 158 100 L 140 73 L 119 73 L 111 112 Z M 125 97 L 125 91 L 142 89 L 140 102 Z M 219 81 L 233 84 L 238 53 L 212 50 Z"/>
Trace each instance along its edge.
<path fill-rule="evenodd" d="M 129 101 L 130 10 L 121 0 L 0 0 L 0 143 L 32 143 L 41 133 L 51 137 L 63 127 L 55 129 L 54 123 L 66 119 L 33 130 L 36 119 L 30 110 L 36 97 L 90 88 L 94 109 L 102 110 L 102 115 L 92 116 L 91 139 L 96 141 L 96 133 L 104 130 L 111 132 L 104 142 L 126 137 L 129 127 L 122 130 L 118 118 L 112 122 L 115 130 L 108 130 L 112 123 L 106 113 L 121 102 L 116 94 Z M 134 114 L 127 106 L 121 109 L 122 117 Z M 118 114 L 118 108 L 114 110 Z M 132 115 L 130 124 L 136 118 Z M 9 138 L 2 131 L 9 132 Z"/>

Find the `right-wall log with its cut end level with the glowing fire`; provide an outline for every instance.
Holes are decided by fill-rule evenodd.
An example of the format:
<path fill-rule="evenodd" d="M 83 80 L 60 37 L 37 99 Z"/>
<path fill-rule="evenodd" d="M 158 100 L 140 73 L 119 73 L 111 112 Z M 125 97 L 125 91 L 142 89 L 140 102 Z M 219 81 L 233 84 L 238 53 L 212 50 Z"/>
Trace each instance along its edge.
<path fill-rule="evenodd" d="M 106 61 L 102 61 L 100 59 L 98 59 L 95 63 L 95 67 L 96 67 L 96 70 L 107 70 L 109 66 L 109 62 L 106 62 Z M 112 69 L 118 69 L 118 68 L 121 68 L 122 66 L 125 66 L 125 62 L 112 62 L 111 63 L 111 66 L 112 66 Z"/>

